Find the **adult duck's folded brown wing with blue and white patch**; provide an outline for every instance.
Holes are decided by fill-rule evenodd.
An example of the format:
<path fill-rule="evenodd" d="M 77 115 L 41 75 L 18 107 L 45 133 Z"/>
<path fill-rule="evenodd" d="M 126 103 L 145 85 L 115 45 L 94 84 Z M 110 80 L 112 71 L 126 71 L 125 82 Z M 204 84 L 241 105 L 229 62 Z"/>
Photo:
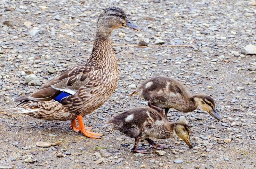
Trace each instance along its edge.
<path fill-rule="evenodd" d="M 69 67 L 36 92 L 20 97 L 15 101 L 34 100 L 44 102 L 56 97 L 61 100 L 59 95 L 62 97 L 74 95 L 81 86 L 88 86 L 88 83 L 94 80 L 93 77 L 97 77 L 98 73 L 99 70 L 97 68 L 87 63 Z"/>

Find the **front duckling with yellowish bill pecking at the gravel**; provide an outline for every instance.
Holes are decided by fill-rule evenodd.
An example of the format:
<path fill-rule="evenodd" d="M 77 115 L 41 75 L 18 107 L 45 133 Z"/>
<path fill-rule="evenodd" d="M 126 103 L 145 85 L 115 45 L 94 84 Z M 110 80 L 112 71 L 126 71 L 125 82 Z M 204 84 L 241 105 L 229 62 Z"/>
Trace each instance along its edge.
<path fill-rule="evenodd" d="M 145 139 L 155 149 L 169 148 L 167 145 L 157 144 L 149 137 L 164 139 L 177 135 L 189 148 L 193 145 L 190 142 L 190 128 L 185 123 L 167 121 L 163 114 L 150 107 L 134 108 L 117 114 L 107 121 L 110 126 L 126 136 L 135 138 L 132 152 L 148 154 L 145 149 L 138 147 L 140 139 Z"/>

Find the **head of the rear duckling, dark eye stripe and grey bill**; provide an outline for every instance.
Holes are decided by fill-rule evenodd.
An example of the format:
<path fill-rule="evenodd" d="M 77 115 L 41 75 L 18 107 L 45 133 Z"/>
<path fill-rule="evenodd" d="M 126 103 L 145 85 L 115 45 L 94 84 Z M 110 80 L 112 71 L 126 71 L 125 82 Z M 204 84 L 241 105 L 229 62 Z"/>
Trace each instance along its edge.
<path fill-rule="evenodd" d="M 201 107 L 201 109 L 209 112 L 209 114 L 214 117 L 214 119 L 217 119 L 218 121 L 221 119 L 219 113 L 215 109 L 215 102 L 212 99 L 211 96 L 208 95 L 196 95 L 194 97 L 194 101 L 196 102 L 196 105 Z"/>

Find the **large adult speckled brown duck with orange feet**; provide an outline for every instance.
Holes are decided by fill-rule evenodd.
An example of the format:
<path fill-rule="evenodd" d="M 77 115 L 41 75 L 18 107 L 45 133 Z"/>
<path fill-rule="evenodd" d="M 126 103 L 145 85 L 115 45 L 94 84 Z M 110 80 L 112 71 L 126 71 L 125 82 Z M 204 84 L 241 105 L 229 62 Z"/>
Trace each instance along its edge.
<path fill-rule="evenodd" d="M 36 92 L 16 99 L 23 102 L 10 111 L 44 120 L 71 120 L 74 131 L 100 138 L 102 134 L 84 127 L 82 118 L 104 104 L 116 87 L 118 69 L 110 35 L 113 29 L 122 26 L 141 30 L 127 19 L 121 8 L 106 8 L 98 19 L 87 62 L 69 67 Z"/>

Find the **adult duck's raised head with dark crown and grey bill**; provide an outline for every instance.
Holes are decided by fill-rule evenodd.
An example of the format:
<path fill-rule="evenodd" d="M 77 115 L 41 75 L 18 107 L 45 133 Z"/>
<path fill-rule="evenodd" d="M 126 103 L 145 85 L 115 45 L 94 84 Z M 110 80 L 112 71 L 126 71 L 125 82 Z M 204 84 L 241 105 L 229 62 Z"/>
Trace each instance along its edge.
<path fill-rule="evenodd" d="M 116 6 L 106 8 L 101 12 L 97 27 L 110 29 L 111 31 L 117 27 L 129 27 L 134 30 L 141 30 L 140 27 L 127 19 L 125 12 L 121 8 Z"/>

